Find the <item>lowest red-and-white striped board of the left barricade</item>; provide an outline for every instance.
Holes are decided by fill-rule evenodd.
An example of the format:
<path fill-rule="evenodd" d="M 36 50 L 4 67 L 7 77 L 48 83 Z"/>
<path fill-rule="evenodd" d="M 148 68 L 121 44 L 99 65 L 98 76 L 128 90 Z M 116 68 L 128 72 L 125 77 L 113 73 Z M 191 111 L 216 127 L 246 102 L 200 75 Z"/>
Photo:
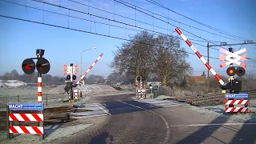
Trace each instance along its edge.
<path fill-rule="evenodd" d="M 10 134 L 43 134 L 42 126 L 9 126 Z"/>

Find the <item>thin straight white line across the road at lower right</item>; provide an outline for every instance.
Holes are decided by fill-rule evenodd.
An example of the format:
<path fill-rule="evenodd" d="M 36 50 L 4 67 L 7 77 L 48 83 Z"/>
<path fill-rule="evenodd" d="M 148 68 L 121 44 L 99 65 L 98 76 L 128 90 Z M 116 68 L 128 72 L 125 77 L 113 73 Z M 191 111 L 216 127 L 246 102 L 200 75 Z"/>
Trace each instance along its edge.
<path fill-rule="evenodd" d="M 170 127 L 180 126 L 242 126 L 242 125 L 256 125 L 256 123 L 206 123 L 206 124 L 191 124 L 191 125 L 173 125 Z"/>

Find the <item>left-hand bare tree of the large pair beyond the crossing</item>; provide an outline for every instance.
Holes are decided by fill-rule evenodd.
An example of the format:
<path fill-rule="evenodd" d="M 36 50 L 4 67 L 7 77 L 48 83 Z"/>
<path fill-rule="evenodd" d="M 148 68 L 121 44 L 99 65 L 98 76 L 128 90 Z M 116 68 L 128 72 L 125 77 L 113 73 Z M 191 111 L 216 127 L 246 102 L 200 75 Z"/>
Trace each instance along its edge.
<path fill-rule="evenodd" d="M 147 77 L 153 70 L 151 66 L 154 55 L 154 35 L 146 31 L 136 34 L 131 42 L 124 42 L 114 52 L 114 61 L 110 67 L 121 74 L 131 74 L 136 77 L 140 74 Z"/>

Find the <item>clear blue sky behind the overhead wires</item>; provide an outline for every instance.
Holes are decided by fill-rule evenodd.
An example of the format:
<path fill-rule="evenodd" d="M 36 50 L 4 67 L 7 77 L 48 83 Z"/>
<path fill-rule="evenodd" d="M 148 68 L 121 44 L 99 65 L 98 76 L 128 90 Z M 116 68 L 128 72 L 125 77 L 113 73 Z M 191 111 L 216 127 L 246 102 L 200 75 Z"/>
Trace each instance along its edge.
<path fill-rule="evenodd" d="M 136 34 L 134 30 L 141 30 L 135 28 L 133 26 L 126 26 L 117 22 L 110 22 L 108 19 L 115 19 L 118 22 L 126 22 L 130 25 L 140 26 L 146 28 L 148 30 L 154 30 L 164 34 L 171 34 L 174 31 L 174 26 L 179 26 L 184 30 L 189 31 L 191 34 L 196 34 L 199 37 L 210 39 L 215 41 L 215 44 L 219 44 L 219 42 L 242 42 L 238 40 L 230 39 L 230 36 L 225 34 L 221 34 L 218 31 L 210 30 L 206 26 L 202 26 L 196 22 L 193 22 L 187 18 L 184 18 L 178 14 L 174 14 L 173 12 L 168 12 L 159 6 L 155 6 L 150 2 L 146 2 L 145 0 L 125 0 L 125 2 L 130 2 L 135 6 L 140 6 L 146 10 L 150 10 L 152 13 L 161 14 L 165 17 L 174 19 L 174 22 L 169 20 L 174 26 L 170 26 L 166 24 L 167 18 L 161 18 L 166 22 L 161 22 L 155 18 L 152 18 L 146 14 L 142 14 L 138 10 L 135 13 L 135 10 L 124 6 L 118 2 L 114 2 L 113 0 L 73 0 L 74 2 L 81 2 L 85 5 L 97 7 L 98 9 L 106 10 L 112 12 L 114 14 L 120 14 L 126 16 L 128 18 L 136 18 L 136 20 L 141 22 L 146 22 L 150 24 L 154 24 L 153 26 L 148 26 L 146 24 L 135 22 L 134 20 L 130 20 L 127 18 L 118 17 L 114 14 L 107 14 L 101 10 L 95 10 L 93 8 L 89 8 L 88 6 L 82 6 L 81 4 L 70 2 L 67 0 L 45 0 L 46 2 L 54 3 L 56 5 L 60 5 L 66 8 L 70 8 L 71 10 L 65 10 L 58 6 L 49 6 L 46 4 L 42 4 L 40 2 L 33 2 L 30 0 L 9 0 L 8 2 L 15 2 L 25 6 L 32 6 L 42 10 L 50 10 L 60 14 L 67 14 L 77 18 L 68 18 L 66 16 L 52 14 L 49 12 L 42 12 L 42 10 L 34 10 L 25 6 L 17 6 L 14 4 L 10 4 L 8 2 L 0 1 L 0 14 L 6 15 L 14 18 L 22 18 L 28 19 L 34 22 L 45 22 L 48 24 L 56 25 L 56 26 L 64 26 L 70 27 L 77 30 L 85 30 L 97 34 L 106 34 L 118 38 L 128 38 L 128 35 Z M 235 34 L 241 36 L 242 38 L 248 38 L 254 40 L 256 42 L 256 2 L 254 0 L 155 0 L 156 2 L 161 3 L 162 5 L 170 8 L 171 10 L 175 10 L 180 14 L 184 14 L 187 17 L 193 18 L 199 22 L 203 22 L 209 26 L 213 26 L 214 28 L 218 28 L 219 30 L 224 30 L 229 32 L 230 34 Z M 72 10 L 82 11 L 84 13 L 74 12 Z M 94 16 L 90 16 L 90 14 L 94 14 L 97 16 L 101 16 L 103 18 L 95 18 Z M 136 16 L 135 16 L 136 15 Z M 87 19 L 89 21 L 81 20 L 78 18 Z M 134 30 L 127 30 L 124 28 L 116 28 L 112 26 L 102 25 L 98 22 L 102 23 L 110 23 L 114 26 L 122 26 Z M 184 26 L 181 23 L 185 23 L 190 26 Z M 158 27 L 162 27 L 166 30 L 163 30 Z M 202 30 L 209 31 L 214 34 L 219 34 L 224 37 L 223 38 L 218 35 L 209 34 L 200 30 L 196 30 L 193 27 L 197 27 Z M 177 35 L 176 33 L 173 33 Z M 183 31 L 183 34 L 186 35 L 189 39 L 201 40 L 200 38 L 192 37 L 193 35 Z M 194 40 L 190 40 L 192 43 L 196 42 L 203 46 L 198 46 L 194 44 L 194 46 L 198 49 L 198 51 L 206 55 L 206 42 L 198 42 Z M 84 72 L 94 59 L 98 57 L 99 54 L 103 53 L 104 55 L 98 61 L 98 63 L 94 66 L 92 70 L 90 70 L 89 74 L 100 74 L 102 76 L 107 76 L 110 74 L 111 70 L 109 68 L 109 64 L 114 58 L 112 51 L 117 50 L 116 46 L 121 46 L 122 42 L 126 42 L 124 40 L 108 38 L 99 36 L 96 34 L 88 34 L 84 32 L 78 32 L 75 30 L 66 30 L 62 28 L 56 28 L 53 26 L 45 26 L 41 24 L 36 24 L 32 22 L 23 22 L 10 18 L 2 18 L 0 17 L 0 74 L 3 74 L 6 71 L 10 70 L 18 70 L 20 74 L 22 74 L 21 64 L 25 58 L 35 57 L 36 49 L 43 49 L 45 51 L 44 57 L 50 61 L 51 69 L 49 74 L 63 76 L 63 65 L 64 64 L 78 64 L 80 67 L 80 54 L 82 50 L 89 49 L 90 47 L 96 46 L 95 50 L 88 50 L 82 54 L 82 71 Z M 213 44 L 213 43 L 211 43 Z M 186 43 L 182 41 L 182 46 L 186 48 L 188 52 L 192 52 Z M 218 49 L 219 47 L 215 47 Z M 227 48 L 227 47 L 225 47 Z M 235 50 L 238 50 L 240 46 L 233 46 Z M 244 45 L 242 48 L 246 48 L 247 56 L 253 59 L 256 59 L 256 46 L 252 45 Z M 210 56 L 214 58 L 218 58 L 219 55 L 218 50 L 210 49 Z M 206 57 L 205 57 L 206 58 Z M 190 54 L 190 58 L 188 61 L 191 63 L 191 66 L 194 68 L 194 75 L 202 74 L 203 70 L 206 70 L 206 67 L 202 64 L 202 62 L 194 55 Z M 226 67 L 220 68 L 221 62 L 217 59 L 210 58 L 210 66 L 214 68 L 219 74 L 226 75 Z M 247 74 L 256 73 L 256 65 L 255 62 L 247 60 L 246 67 Z M 80 70 L 79 70 L 80 72 Z"/>

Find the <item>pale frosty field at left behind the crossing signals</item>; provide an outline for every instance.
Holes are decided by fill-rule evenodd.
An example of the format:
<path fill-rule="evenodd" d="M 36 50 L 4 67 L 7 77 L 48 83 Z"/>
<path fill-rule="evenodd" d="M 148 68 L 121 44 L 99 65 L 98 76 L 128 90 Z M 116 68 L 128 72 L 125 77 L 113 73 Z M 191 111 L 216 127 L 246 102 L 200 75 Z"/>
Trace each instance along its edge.
<path fill-rule="evenodd" d="M 45 107 L 65 106 L 69 102 L 63 102 L 67 99 L 66 94 L 61 94 L 65 85 L 54 88 L 42 88 L 42 102 Z M 78 89 L 80 87 L 78 86 Z M 82 87 L 82 99 L 87 100 L 93 94 L 107 94 L 117 92 L 113 87 L 106 85 L 85 85 Z M 6 110 L 7 102 L 38 102 L 37 87 L 27 86 L 26 88 L 13 88 L 0 90 L 0 111 Z"/>

